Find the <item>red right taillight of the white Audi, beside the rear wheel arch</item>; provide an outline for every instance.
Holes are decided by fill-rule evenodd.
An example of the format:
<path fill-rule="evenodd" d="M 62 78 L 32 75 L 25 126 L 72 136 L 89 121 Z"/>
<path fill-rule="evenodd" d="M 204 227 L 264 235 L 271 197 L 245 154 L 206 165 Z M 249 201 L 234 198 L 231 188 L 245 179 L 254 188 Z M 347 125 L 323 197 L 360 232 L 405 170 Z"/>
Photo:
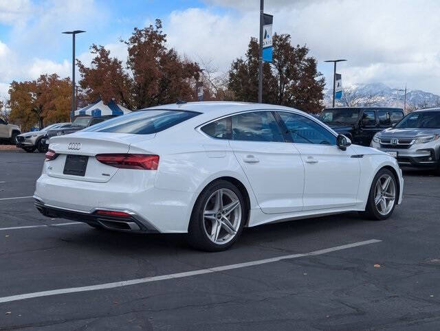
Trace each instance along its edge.
<path fill-rule="evenodd" d="M 157 170 L 159 155 L 146 154 L 98 154 L 96 159 L 115 168 Z"/>

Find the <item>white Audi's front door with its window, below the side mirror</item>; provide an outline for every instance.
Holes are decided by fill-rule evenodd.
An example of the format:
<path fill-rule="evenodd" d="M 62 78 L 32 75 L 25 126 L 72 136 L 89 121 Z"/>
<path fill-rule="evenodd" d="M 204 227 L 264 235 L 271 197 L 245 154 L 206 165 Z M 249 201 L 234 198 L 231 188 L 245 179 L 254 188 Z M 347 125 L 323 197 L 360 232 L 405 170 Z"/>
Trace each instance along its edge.
<path fill-rule="evenodd" d="M 278 112 L 305 167 L 304 210 L 355 205 L 360 162 L 353 148 L 341 150 L 336 136 L 314 119 L 297 113 Z"/>

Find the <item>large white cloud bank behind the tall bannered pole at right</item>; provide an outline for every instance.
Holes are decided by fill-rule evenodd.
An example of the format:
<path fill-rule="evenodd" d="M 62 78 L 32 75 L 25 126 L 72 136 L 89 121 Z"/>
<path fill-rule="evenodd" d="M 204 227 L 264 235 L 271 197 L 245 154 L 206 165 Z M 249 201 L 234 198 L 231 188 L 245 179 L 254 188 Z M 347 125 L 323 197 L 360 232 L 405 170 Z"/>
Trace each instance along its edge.
<path fill-rule="evenodd" d="M 207 9 L 173 12 L 166 22 L 170 45 L 197 59 L 212 58 L 226 71 L 243 56 L 250 36 L 259 33 L 259 1 L 206 0 Z M 440 1 L 419 0 L 278 0 L 265 1 L 274 14 L 274 31 L 292 35 L 318 60 L 318 69 L 332 80 L 323 61 L 347 58 L 338 66 L 345 84 L 384 82 L 392 87 L 440 93 Z M 217 10 L 216 6 L 233 8 Z"/>

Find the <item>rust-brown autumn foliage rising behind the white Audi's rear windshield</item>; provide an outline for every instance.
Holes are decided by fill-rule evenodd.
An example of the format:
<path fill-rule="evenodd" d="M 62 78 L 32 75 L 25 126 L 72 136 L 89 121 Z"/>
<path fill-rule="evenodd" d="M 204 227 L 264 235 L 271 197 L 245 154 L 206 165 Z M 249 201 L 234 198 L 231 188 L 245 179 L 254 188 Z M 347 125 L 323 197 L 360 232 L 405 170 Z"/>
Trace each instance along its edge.
<path fill-rule="evenodd" d="M 196 100 L 199 65 L 166 47 L 166 34 L 159 19 L 155 25 L 135 27 L 131 37 L 121 42 L 128 51 L 125 67 L 122 61 L 111 57 L 109 50 L 98 45 L 91 46 L 95 55 L 91 67 L 77 60 L 80 86 L 89 102 L 101 98 L 107 103 L 114 99 L 135 110 L 177 99 Z"/>

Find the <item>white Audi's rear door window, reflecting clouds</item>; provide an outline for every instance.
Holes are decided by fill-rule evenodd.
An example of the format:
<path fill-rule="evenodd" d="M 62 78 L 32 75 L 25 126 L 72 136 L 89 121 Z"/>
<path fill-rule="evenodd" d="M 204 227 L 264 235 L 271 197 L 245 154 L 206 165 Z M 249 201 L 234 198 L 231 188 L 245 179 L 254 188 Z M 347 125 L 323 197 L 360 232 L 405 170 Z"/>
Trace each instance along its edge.
<path fill-rule="evenodd" d="M 284 141 L 270 111 L 255 111 L 232 116 L 232 139 L 247 141 Z"/>

